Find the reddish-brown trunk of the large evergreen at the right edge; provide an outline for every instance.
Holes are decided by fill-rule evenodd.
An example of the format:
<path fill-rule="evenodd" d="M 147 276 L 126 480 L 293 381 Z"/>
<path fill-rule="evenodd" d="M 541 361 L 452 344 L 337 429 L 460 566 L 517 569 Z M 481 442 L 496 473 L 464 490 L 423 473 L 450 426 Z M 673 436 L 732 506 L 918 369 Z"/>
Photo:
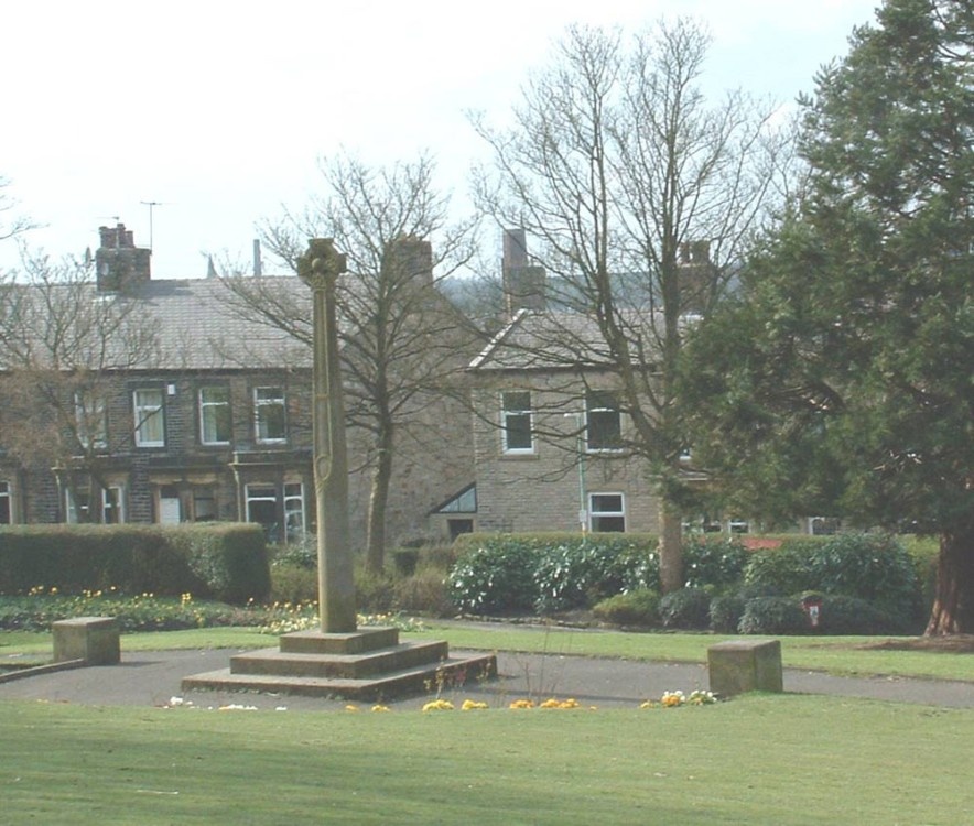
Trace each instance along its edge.
<path fill-rule="evenodd" d="M 927 637 L 974 633 L 974 525 L 940 536 L 937 590 Z"/>

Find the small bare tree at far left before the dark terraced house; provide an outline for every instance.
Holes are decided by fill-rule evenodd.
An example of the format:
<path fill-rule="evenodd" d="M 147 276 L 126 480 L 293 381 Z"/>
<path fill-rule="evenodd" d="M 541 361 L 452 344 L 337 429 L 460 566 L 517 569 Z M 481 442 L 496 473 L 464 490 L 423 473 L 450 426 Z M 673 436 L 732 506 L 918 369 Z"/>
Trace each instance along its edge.
<path fill-rule="evenodd" d="M 99 294 L 90 264 L 43 254 L 0 280 L 0 320 L 3 447 L 23 466 L 58 468 L 75 501 L 79 480 L 107 488 L 108 456 L 131 441 L 107 427 L 115 379 L 158 363 L 155 325 L 138 302 Z"/>

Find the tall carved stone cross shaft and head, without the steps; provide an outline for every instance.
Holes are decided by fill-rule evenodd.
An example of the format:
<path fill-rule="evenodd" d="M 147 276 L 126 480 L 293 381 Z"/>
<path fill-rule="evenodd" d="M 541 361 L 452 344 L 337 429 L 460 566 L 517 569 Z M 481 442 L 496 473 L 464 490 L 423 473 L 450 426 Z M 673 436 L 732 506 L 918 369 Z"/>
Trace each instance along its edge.
<path fill-rule="evenodd" d="M 297 274 L 314 303 L 314 486 L 317 504 L 318 606 L 322 633 L 356 630 L 355 580 L 348 541 L 348 459 L 338 363 L 335 282 L 345 256 L 331 238 L 312 238 Z"/>

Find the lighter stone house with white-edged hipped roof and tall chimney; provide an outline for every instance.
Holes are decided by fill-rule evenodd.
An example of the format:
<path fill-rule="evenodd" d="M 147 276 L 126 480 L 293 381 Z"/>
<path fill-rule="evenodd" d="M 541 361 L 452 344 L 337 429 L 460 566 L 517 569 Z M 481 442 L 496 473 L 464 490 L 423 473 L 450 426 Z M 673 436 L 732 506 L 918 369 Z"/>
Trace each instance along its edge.
<path fill-rule="evenodd" d="M 593 319 L 545 308 L 545 278 L 522 230 L 505 233 L 510 320 L 470 362 L 478 531 L 654 532 L 646 464 L 599 356 Z M 455 502 L 448 503 L 448 507 Z M 445 512 L 445 511 L 444 511 Z"/>

